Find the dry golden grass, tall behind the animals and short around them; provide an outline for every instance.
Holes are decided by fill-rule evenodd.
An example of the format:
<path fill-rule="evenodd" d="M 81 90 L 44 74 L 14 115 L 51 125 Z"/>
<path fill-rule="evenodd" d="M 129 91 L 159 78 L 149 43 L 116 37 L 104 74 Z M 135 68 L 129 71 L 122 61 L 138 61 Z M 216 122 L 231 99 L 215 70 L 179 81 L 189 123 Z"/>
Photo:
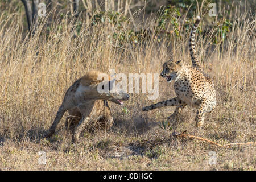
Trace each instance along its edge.
<path fill-rule="evenodd" d="M 207 36 L 199 37 L 196 45 L 205 71 L 214 76 L 218 101 L 197 136 L 220 144 L 255 142 L 256 20 L 246 17 L 233 19 L 234 28 L 224 46 L 210 46 Z M 175 96 L 172 84 L 160 77 L 158 100 L 131 94 L 125 104 L 128 114 L 123 114 L 124 106 L 110 105 L 118 119 L 112 131 L 84 133 L 73 145 L 72 135 L 60 122 L 54 137 L 42 139 L 65 91 L 85 71 L 109 73 L 114 68 L 117 73 L 159 73 L 161 63 L 171 55 L 190 63 L 188 36 L 162 43 L 151 36 L 137 45 L 123 42 L 120 46 L 108 38 L 113 28 L 109 26 L 83 25 L 72 39 L 72 22 L 64 19 L 59 22 L 63 31 L 55 26 L 48 39 L 43 26 L 40 35 L 24 38 L 20 22 L 20 15 L 5 21 L 0 17 L 0 169 L 255 170 L 255 146 L 227 149 L 174 138 L 158 126 L 174 108 L 142 113 L 143 106 Z M 173 130 L 194 131 L 194 118 L 195 111 L 185 109 Z M 39 151 L 46 152 L 46 165 L 38 164 Z M 209 151 L 217 152 L 216 165 L 208 163 Z"/>

